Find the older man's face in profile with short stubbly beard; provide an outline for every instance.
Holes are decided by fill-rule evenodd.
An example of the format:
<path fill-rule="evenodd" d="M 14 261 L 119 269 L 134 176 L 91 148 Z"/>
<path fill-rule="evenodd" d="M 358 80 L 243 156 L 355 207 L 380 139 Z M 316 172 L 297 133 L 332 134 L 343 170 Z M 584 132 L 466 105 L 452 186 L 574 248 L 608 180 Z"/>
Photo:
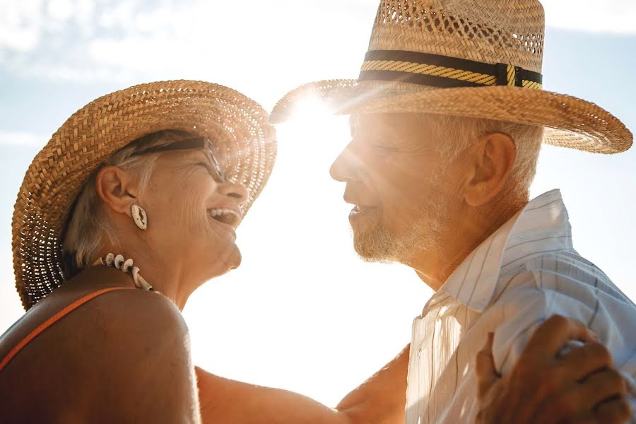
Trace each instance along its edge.
<path fill-rule="evenodd" d="M 430 126 L 414 114 L 351 118 L 351 143 L 331 165 L 346 182 L 344 200 L 356 252 L 369 261 L 410 264 L 438 243 L 456 197 Z"/>

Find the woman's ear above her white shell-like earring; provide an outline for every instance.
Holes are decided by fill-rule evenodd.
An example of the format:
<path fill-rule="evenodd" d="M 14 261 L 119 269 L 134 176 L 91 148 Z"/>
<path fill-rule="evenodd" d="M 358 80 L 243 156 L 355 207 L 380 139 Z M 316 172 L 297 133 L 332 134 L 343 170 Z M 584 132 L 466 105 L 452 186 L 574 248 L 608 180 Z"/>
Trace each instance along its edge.
<path fill-rule="evenodd" d="M 95 192 L 114 212 L 130 216 L 130 207 L 137 202 L 137 179 L 129 172 L 105 166 L 95 177 Z"/>

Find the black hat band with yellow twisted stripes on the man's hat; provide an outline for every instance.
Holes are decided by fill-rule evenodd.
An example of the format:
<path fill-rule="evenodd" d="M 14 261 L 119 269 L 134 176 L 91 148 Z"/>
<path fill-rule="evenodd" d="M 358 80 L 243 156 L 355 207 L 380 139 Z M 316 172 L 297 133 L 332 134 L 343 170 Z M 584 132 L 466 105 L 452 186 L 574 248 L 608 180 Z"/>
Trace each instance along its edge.
<path fill-rule="evenodd" d="M 543 90 L 541 73 L 512 64 L 401 50 L 367 52 L 360 81 L 397 81 L 440 88 L 510 86 Z"/>

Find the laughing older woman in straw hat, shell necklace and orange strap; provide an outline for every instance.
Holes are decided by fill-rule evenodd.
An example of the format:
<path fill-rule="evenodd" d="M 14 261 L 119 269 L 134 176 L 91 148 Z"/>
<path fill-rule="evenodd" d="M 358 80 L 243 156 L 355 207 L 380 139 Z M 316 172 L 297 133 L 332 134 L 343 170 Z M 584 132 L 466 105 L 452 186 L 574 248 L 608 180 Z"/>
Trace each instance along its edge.
<path fill-rule="evenodd" d="M 275 156 L 264 110 L 211 83 L 135 86 L 73 114 L 30 165 L 13 215 L 27 313 L 0 338 L 0 420 L 403 421 L 408 347 L 335 409 L 191 363 L 180 310 L 199 285 L 239 266 L 235 228 Z M 559 325 L 558 339 L 548 331 L 530 346 L 589 336 Z M 508 393 L 483 358 L 484 394 Z M 484 405 L 497 416 L 512 403 L 484 396 Z"/>

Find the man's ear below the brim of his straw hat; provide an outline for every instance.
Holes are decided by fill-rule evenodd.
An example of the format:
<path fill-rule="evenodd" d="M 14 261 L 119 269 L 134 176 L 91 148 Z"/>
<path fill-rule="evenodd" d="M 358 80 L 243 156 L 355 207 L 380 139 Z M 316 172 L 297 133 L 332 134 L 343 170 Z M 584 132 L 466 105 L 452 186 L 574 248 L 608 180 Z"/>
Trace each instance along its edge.
<path fill-rule="evenodd" d="M 464 199 L 471 206 L 483 206 L 503 189 L 517 157 L 517 148 L 511 136 L 497 132 L 481 136 L 471 150 L 473 177 Z"/>

